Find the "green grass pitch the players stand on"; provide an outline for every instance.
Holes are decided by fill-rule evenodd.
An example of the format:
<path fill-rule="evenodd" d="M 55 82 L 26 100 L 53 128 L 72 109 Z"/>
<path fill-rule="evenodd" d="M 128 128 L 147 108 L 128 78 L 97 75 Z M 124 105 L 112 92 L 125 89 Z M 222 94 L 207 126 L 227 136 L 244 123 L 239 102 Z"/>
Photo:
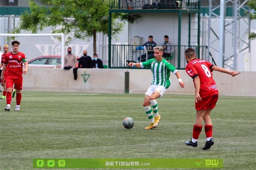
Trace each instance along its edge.
<path fill-rule="evenodd" d="M 145 130 L 144 94 L 22 92 L 20 112 L 0 100 L 0 169 L 32 169 L 33 158 L 223 158 L 226 169 L 256 167 L 256 98 L 220 96 L 212 110 L 214 145 L 186 146 L 195 121 L 194 96 L 158 99 L 161 121 Z M 132 117 L 135 126 L 122 121 Z"/>

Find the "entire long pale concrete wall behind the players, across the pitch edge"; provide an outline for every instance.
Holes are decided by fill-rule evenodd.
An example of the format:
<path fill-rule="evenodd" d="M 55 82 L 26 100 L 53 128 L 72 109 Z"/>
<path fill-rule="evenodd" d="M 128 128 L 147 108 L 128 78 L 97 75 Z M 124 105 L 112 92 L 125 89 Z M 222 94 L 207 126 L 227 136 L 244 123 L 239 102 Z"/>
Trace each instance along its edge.
<path fill-rule="evenodd" d="M 90 92 L 90 93 L 124 93 L 124 73 L 130 72 L 130 93 L 145 93 L 152 81 L 152 73 L 145 69 L 78 69 L 77 80 L 73 70 L 29 68 L 23 76 L 23 90 Z M 181 89 L 175 75 L 171 74 L 171 86 L 166 94 L 194 94 L 194 84 L 185 70 L 180 70 L 185 88 Z M 86 78 L 90 75 L 86 82 Z M 213 72 L 220 95 L 256 96 L 256 72 L 244 71 L 236 77 Z"/>

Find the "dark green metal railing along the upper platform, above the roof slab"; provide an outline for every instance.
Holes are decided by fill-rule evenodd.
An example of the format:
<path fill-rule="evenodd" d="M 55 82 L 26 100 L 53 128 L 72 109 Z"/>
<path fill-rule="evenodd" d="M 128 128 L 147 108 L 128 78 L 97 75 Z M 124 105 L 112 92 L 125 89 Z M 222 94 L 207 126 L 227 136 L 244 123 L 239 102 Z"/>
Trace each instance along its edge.
<path fill-rule="evenodd" d="M 179 9 L 198 10 L 200 0 L 109 0 L 109 8 L 117 9 Z"/>

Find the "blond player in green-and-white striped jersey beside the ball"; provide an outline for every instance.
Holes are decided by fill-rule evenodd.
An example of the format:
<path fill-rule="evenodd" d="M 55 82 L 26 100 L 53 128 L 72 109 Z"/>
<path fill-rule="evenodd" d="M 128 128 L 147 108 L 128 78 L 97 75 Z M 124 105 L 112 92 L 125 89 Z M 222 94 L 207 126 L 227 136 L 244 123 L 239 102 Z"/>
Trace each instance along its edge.
<path fill-rule="evenodd" d="M 166 89 L 171 85 L 171 71 L 173 74 L 177 76 L 180 87 L 184 88 L 184 83 L 181 80 L 180 73 L 178 72 L 178 70 L 171 63 L 167 62 L 163 58 L 163 49 L 164 48 L 162 46 L 156 46 L 154 47 L 155 58 L 152 58 L 143 63 L 128 64 L 129 67 L 148 67 L 152 71 L 153 80 L 150 87 L 148 88 L 148 91 L 145 93 L 145 100 L 143 103 L 143 108 L 150 121 L 149 126 L 147 126 L 145 129 L 157 128 L 159 124 L 161 116 L 158 114 L 156 99 L 163 96 Z M 153 111 L 150 107 L 150 104 L 152 104 Z M 153 112 L 155 117 L 153 115 Z"/>

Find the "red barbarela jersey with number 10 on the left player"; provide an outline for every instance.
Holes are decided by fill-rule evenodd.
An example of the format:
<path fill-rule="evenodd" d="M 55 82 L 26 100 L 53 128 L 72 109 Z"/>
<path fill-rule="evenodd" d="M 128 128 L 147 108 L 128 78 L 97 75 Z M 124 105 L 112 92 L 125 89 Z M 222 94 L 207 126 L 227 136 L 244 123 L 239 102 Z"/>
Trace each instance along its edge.
<path fill-rule="evenodd" d="M 20 77 L 22 76 L 23 62 L 27 62 L 25 54 L 18 52 L 17 54 L 12 54 L 12 52 L 7 53 L 4 56 L 4 63 L 7 64 L 8 76 Z"/>

